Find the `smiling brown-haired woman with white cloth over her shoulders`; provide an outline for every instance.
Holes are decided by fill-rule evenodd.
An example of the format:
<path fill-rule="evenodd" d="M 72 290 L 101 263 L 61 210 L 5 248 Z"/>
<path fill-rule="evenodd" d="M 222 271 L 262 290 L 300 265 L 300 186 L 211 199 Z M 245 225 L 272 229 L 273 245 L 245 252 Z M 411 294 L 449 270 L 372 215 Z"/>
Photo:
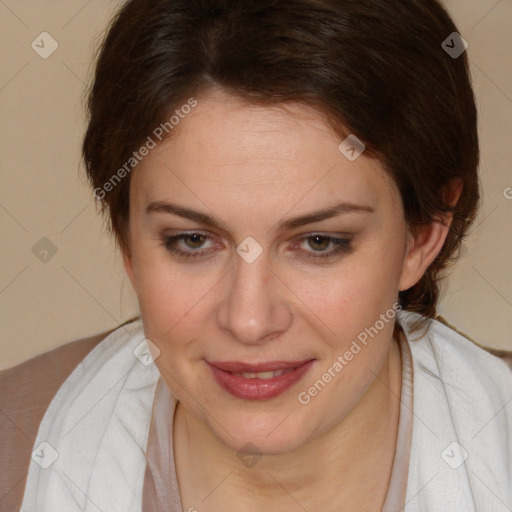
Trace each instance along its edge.
<path fill-rule="evenodd" d="M 22 511 L 512 507 L 512 374 L 436 319 L 464 50 L 435 0 L 121 8 L 83 154 L 141 318 L 75 357 Z"/>

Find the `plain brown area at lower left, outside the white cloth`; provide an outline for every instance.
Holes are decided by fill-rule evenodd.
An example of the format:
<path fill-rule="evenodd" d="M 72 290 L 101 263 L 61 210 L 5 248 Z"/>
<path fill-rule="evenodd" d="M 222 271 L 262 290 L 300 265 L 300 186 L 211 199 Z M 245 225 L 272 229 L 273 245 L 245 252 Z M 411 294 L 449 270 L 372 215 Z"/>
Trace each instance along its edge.
<path fill-rule="evenodd" d="M 110 332 L 65 343 L 0 371 L 0 510 L 19 510 L 46 409 L 75 367 Z"/>

